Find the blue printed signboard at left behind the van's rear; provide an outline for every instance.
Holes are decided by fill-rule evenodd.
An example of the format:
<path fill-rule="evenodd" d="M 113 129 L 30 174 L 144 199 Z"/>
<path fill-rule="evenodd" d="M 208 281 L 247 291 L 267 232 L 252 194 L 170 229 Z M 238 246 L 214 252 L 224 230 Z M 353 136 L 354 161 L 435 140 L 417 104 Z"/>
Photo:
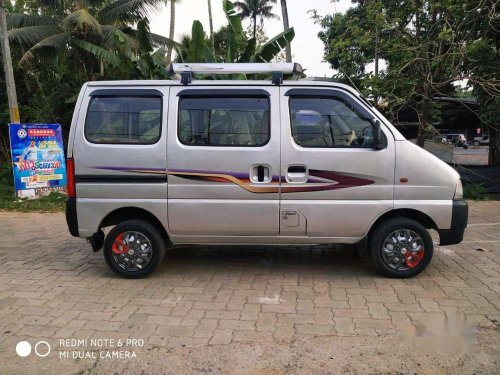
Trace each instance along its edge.
<path fill-rule="evenodd" d="M 9 124 L 14 186 L 19 198 L 66 192 L 66 163 L 59 124 Z"/>

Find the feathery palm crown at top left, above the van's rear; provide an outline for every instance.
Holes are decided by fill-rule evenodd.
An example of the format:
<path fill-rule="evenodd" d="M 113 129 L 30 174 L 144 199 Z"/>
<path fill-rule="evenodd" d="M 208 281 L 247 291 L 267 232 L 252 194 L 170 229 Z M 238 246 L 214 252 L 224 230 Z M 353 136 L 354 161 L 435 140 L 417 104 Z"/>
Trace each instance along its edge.
<path fill-rule="evenodd" d="M 40 0 L 40 11 L 10 13 L 9 39 L 25 51 L 21 66 L 45 55 L 65 53 L 84 69 L 90 80 L 103 65 L 120 67 L 120 57 L 138 50 L 137 30 L 141 21 L 164 0 Z M 171 44 L 168 38 L 149 34 L 156 47 Z"/>

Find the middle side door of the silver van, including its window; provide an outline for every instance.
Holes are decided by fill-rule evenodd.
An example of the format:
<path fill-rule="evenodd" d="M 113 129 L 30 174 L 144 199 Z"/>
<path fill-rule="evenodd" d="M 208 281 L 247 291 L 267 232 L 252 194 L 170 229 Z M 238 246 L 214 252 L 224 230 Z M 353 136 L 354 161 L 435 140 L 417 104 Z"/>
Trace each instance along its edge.
<path fill-rule="evenodd" d="M 172 87 L 170 108 L 168 223 L 174 237 L 277 236 L 279 88 Z"/>

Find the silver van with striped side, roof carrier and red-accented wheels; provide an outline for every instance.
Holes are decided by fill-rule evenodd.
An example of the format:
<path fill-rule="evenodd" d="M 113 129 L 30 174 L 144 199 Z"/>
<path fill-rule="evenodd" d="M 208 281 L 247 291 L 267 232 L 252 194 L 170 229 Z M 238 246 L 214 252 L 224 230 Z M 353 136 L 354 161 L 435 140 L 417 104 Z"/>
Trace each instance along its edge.
<path fill-rule="evenodd" d="M 179 81 L 86 83 L 73 115 L 68 228 L 118 274 L 150 274 L 175 245 L 341 243 L 404 278 L 431 261 L 428 229 L 462 241 L 457 172 L 352 88 L 283 81 L 298 64 L 173 71 Z M 273 78 L 193 79 L 208 73 Z"/>

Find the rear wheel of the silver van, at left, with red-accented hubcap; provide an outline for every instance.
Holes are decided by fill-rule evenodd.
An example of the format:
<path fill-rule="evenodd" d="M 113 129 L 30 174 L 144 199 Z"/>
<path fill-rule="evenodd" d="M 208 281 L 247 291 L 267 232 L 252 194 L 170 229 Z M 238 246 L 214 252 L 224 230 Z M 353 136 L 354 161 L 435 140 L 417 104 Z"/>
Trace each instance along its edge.
<path fill-rule="evenodd" d="M 136 279 L 149 275 L 165 258 L 165 239 L 144 220 L 116 225 L 104 241 L 104 259 L 117 274 Z"/>

